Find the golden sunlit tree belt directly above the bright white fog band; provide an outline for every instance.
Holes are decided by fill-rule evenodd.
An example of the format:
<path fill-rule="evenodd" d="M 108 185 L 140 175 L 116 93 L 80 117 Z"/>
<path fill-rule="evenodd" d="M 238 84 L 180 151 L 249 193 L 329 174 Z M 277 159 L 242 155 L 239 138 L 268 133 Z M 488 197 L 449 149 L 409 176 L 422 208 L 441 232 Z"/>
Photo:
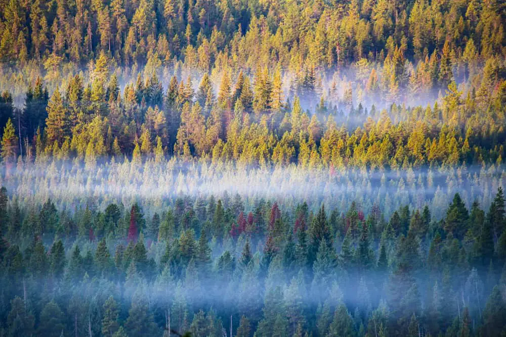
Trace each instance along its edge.
<path fill-rule="evenodd" d="M 217 95 L 207 74 L 196 91 L 190 78 L 173 76 L 164 90 L 156 74 L 145 81 L 139 75 L 121 93 L 106 64 L 102 55 L 93 82 L 86 85 L 75 75 L 51 98 L 37 79 L 22 110 L 4 93 L 3 160 L 78 158 L 93 166 L 112 156 L 182 156 L 262 167 L 406 168 L 500 164 L 504 157 L 506 82 L 494 75 L 502 68 L 493 62 L 487 62 L 479 90 L 466 97 L 450 82 L 433 106 L 376 110 L 343 101 L 336 106 L 334 87 L 312 112 L 297 95 L 293 103 L 283 99 L 279 71 L 272 77 L 261 71 L 254 83 L 241 72 L 235 85 L 224 72 Z"/>

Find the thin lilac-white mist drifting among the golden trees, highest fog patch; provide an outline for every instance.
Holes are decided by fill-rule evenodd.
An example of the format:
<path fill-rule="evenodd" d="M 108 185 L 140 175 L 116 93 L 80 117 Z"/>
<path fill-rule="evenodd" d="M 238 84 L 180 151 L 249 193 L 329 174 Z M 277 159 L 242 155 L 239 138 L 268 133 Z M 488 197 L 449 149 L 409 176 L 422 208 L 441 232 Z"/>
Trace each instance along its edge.
<path fill-rule="evenodd" d="M 410 74 L 414 71 L 414 65 L 406 61 L 405 65 L 406 74 Z M 444 94 L 446 88 L 433 87 L 424 92 L 410 92 L 407 86 L 399 88 L 399 93 L 396 98 L 387 98 L 385 92 L 381 92 L 376 89 L 374 92 L 366 92 L 365 87 L 372 69 L 377 69 L 377 65 L 373 63 L 367 63 L 365 68 L 359 69 L 357 65 L 344 66 L 333 69 L 315 69 L 316 74 L 316 87 L 312 97 L 301 97 L 297 90 L 293 90 L 293 87 L 297 85 L 298 76 L 304 74 L 295 74 L 288 70 L 284 70 L 281 73 L 282 78 L 282 90 L 284 102 L 288 99 L 293 104 L 294 97 L 299 96 L 301 106 L 304 110 L 313 114 L 317 110 L 317 106 L 320 104 L 320 98 L 323 97 L 327 112 L 335 112 L 336 122 L 351 124 L 352 126 L 358 126 L 364 122 L 369 116 L 366 112 L 370 112 L 372 106 L 374 106 L 378 113 L 382 109 L 389 109 L 390 106 L 395 103 L 397 105 L 405 105 L 407 107 L 416 106 L 427 106 L 433 105 L 435 101 L 439 100 L 441 94 Z M 9 69 L 4 69 L 5 78 L 9 78 Z M 255 83 L 255 71 L 252 69 L 243 69 L 245 76 L 247 76 L 251 83 L 251 89 L 254 88 Z M 118 85 L 120 91 L 123 92 L 124 88 L 128 84 L 134 84 L 137 81 L 138 75 L 141 75 L 141 79 L 146 81 L 150 78 L 153 73 L 156 73 L 160 83 L 163 87 L 163 93 L 166 92 L 171 78 L 176 76 L 179 82 L 187 82 L 188 79 L 192 82 L 192 87 L 197 92 L 199 84 L 201 82 L 203 72 L 197 69 L 188 69 L 184 63 L 176 63 L 171 66 L 153 69 L 151 66 L 138 66 L 135 65 L 132 68 L 129 67 L 116 67 L 112 66 L 109 69 L 109 76 L 115 73 L 118 79 Z M 20 78 L 16 78 L 15 83 L 10 81 L 0 82 L 0 91 L 8 90 L 13 94 L 14 105 L 18 109 L 23 109 L 25 103 L 26 91 L 31 83 L 34 84 L 36 76 L 46 78 L 44 71 L 37 69 L 27 72 L 29 75 L 24 73 L 19 74 Z M 61 92 L 65 92 L 67 85 L 71 78 L 75 75 L 81 76 L 83 85 L 86 87 L 88 84 L 92 84 L 93 69 L 80 68 L 75 65 L 69 64 L 62 69 L 61 79 L 58 81 L 50 80 L 46 78 L 44 84 L 48 87 L 50 95 L 54 90 L 59 89 Z M 214 69 L 210 72 L 210 79 L 214 88 L 215 97 L 217 97 L 220 84 L 222 80 L 223 69 Z M 235 83 L 237 80 L 238 72 L 229 74 L 231 77 L 231 91 L 233 93 Z M 273 73 L 269 73 L 272 76 Z M 381 70 L 377 72 L 378 85 L 381 82 L 382 74 Z M 455 79 L 457 85 L 464 85 L 465 82 Z M 105 83 L 107 85 L 107 82 Z M 406 83 L 407 85 L 407 83 Z M 463 88 L 463 86 L 462 86 Z M 347 91 L 351 90 L 351 102 L 345 102 L 345 96 Z M 362 109 L 362 113 L 357 113 L 359 105 Z M 233 106 L 233 103 L 232 103 Z M 353 112 L 353 113 L 352 113 Z M 370 116 L 375 119 L 377 116 Z"/>

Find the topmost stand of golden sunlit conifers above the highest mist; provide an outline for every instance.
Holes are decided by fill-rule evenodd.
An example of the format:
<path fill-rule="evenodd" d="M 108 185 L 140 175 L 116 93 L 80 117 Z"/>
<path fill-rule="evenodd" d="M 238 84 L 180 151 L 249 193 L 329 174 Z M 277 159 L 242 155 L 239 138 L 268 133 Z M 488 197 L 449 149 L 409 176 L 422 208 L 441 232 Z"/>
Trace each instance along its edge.
<path fill-rule="evenodd" d="M 505 38 L 500 2 L 482 0 L 3 0 L 0 8 L 2 61 L 43 60 L 48 69 L 85 64 L 101 51 L 123 65 L 184 59 L 202 71 L 223 61 L 250 69 L 278 62 L 292 70 L 305 62 L 330 68 L 385 59 L 394 50 L 415 60 L 443 51 L 450 64 L 501 54 Z"/>

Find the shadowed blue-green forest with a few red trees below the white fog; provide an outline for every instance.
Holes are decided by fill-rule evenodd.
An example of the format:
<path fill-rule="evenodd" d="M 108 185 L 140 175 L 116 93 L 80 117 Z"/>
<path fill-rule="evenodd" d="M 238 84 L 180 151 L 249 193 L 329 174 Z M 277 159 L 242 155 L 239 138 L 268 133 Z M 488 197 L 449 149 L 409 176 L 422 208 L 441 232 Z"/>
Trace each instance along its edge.
<path fill-rule="evenodd" d="M 501 335 L 506 227 L 455 194 L 441 220 L 353 204 L 34 211 L 0 189 L 5 335 Z M 293 220 L 294 219 L 294 220 Z M 86 232 L 67 230 L 92 224 Z M 6 225 L 5 225 L 6 224 Z M 62 229 L 59 229 L 62 228 Z M 110 234 L 117 234 L 111 236 Z M 230 325 L 230 327 L 229 327 Z M 230 331 L 229 331 L 230 328 Z M 167 332 L 165 332 L 167 333 Z"/>

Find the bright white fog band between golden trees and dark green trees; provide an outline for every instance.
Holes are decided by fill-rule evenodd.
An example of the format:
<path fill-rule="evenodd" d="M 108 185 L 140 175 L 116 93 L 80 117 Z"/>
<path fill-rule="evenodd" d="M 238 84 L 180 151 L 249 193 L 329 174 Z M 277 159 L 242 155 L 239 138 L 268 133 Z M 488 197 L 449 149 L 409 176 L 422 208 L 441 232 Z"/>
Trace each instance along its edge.
<path fill-rule="evenodd" d="M 260 199 L 294 207 L 306 201 L 316 211 L 321 203 L 329 210 L 346 212 L 355 202 L 365 214 L 373 206 L 389 217 L 401 206 L 411 209 L 429 206 L 440 219 L 453 195 L 458 192 L 470 208 L 478 201 L 487 209 L 497 187 L 504 186 L 504 167 L 419 168 L 408 170 L 302 169 L 285 167 L 248 168 L 239 164 L 210 164 L 204 160 L 188 163 L 173 158 L 162 163 L 147 160 L 135 165 L 99 161 L 94 167 L 74 162 L 26 164 L 2 169 L 2 180 L 25 202 L 44 203 L 48 198 L 72 211 L 108 203 L 131 205 L 138 201 L 148 213 L 161 212 L 177 198 L 216 200 L 239 195 L 246 211 Z"/>

